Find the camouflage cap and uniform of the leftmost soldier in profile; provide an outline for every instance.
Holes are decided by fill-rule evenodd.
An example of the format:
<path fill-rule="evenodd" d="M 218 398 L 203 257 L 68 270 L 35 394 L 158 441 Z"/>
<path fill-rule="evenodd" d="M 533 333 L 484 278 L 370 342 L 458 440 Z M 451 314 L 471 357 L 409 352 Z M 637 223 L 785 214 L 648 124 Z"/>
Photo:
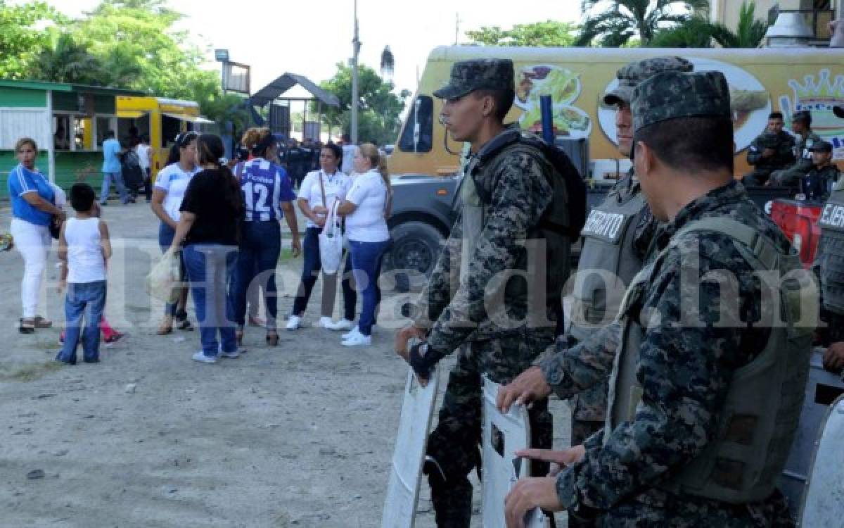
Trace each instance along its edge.
<path fill-rule="evenodd" d="M 451 84 L 434 95 L 452 99 L 502 85 L 512 89 L 511 61 L 464 61 L 454 65 Z M 485 301 L 496 275 L 518 269 L 526 254 L 525 241 L 532 237 L 552 198 L 544 161 L 523 153 L 508 155 L 507 150 L 501 155 L 506 157 L 496 157 L 485 166 L 495 170 L 484 169 L 476 178 L 467 176 L 463 181 L 464 188 L 478 182 L 490 192 L 479 237 L 463 239 L 464 215 L 472 205 L 466 203 L 464 193 L 463 210 L 416 306 L 414 324 L 430 329 L 426 340 L 430 350 L 449 354 L 460 349 L 457 365 L 449 374 L 439 422 L 428 440 L 427 454 L 437 461 L 445 479 L 432 465 L 425 465 L 439 526 L 468 527 L 472 517 L 472 485 L 467 476 L 480 467 L 481 376 L 509 383 L 554 341 L 555 318 L 550 310 L 542 314 L 547 320 L 543 326 L 518 324 L 513 328 L 502 328 L 487 312 L 487 308 L 506 307 L 512 320 L 530 317 L 528 299 L 511 296 L 509 290 L 502 306 L 488 307 Z M 470 254 L 463 254 L 467 242 Z M 529 416 L 533 445 L 549 449 L 552 420 L 547 406 L 548 400 L 539 401 Z M 538 475 L 548 471 L 547 465 L 535 466 Z"/>

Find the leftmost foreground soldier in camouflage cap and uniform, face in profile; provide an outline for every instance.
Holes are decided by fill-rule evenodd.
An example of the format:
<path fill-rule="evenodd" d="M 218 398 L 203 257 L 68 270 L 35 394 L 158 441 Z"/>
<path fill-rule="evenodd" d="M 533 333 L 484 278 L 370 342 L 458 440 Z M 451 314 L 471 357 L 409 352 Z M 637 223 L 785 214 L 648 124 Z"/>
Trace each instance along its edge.
<path fill-rule="evenodd" d="M 480 461 L 481 376 L 507 383 L 554 341 L 558 310 L 533 302 L 545 298 L 545 280 L 527 271 L 527 282 L 493 286 L 502 274 L 529 269 L 528 247 L 544 213 L 554 206 L 553 168 L 538 150 L 506 140 L 522 134 L 503 124 L 514 96 L 510 60 L 455 63 L 450 83 L 434 95 L 446 100 L 441 122 L 454 139 L 471 144 L 472 155 L 460 190 L 463 208 L 419 297 L 414 324 L 399 333 L 396 348 L 401 353 L 411 335 L 424 340 L 405 357 L 423 379 L 441 357 L 459 349 L 428 441 L 427 455 L 436 464 L 426 463 L 425 472 L 437 525 L 468 527 L 472 485 L 467 476 Z M 508 146 L 500 149 L 500 144 Z M 554 263 L 563 268 L 552 271 L 562 280 L 568 273 L 569 243 L 566 239 Z M 533 443 L 549 447 L 548 400 L 537 404 L 529 413 Z M 536 471 L 544 474 L 547 466 Z"/>

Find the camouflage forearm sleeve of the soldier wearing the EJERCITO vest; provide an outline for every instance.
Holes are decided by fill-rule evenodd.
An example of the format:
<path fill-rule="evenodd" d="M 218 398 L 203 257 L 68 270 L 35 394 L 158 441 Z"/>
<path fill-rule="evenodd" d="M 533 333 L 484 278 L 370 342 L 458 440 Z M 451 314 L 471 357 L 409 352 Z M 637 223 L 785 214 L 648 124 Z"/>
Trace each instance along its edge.
<path fill-rule="evenodd" d="M 539 368 L 560 400 L 568 400 L 607 378 L 620 341 L 621 325 L 614 321 L 576 346 L 555 345 L 559 351 L 539 362 Z"/>

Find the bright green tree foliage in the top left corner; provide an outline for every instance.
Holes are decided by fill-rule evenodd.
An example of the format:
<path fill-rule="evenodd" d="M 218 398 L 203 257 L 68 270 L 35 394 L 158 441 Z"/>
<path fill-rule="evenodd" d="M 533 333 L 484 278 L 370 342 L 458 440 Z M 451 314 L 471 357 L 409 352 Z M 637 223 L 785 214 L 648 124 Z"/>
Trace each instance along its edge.
<path fill-rule="evenodd" d="M 47 45 L 42 23 L 62 17 L 44 2 L 8 5 L 0 0 L 0 79 L 32 79 L 37 57 Z"/>

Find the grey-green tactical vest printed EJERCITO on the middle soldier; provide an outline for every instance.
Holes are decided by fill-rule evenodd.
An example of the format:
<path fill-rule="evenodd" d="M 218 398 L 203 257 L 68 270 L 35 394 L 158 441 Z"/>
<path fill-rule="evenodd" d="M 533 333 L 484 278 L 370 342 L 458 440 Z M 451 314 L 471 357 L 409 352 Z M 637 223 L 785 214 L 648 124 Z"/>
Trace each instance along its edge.
<path fill-rule="evenodd" d="M 641 269 L 633 238 L 645 208 L 641 191 L 627 196 L 613 191 L 590 211 L 572 292 L 569 334 L 576 340 L 586 340 L 619 312 L 627 285 Z"/>

